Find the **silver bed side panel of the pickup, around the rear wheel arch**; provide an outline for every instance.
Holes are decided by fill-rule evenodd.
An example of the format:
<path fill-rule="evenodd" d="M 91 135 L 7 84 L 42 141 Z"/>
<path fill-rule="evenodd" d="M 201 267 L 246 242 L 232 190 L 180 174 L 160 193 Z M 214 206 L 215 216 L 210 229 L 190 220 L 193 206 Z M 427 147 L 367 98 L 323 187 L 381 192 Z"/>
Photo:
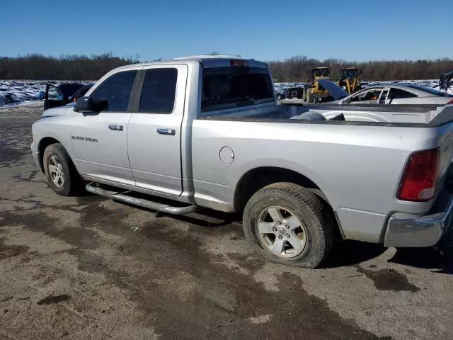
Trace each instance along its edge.
<path fill-rule="evenodd" d="M 236 184 L 247 171 L 275 166 L 297 171 L 323 191 L 347 238 L 379 242 L 389 212 L 422 214 L 432 202 L 396 199 L 408 157 L 437 147 L 435 128 L 370 125 L 193 121 L 195 199 L 233 205 Z M 234 152 L 224 164 L 222 147 Z M 451 155 L 450 155 L 451 156 Z M 449 157 L 450 157 L 449 156 Z"/>

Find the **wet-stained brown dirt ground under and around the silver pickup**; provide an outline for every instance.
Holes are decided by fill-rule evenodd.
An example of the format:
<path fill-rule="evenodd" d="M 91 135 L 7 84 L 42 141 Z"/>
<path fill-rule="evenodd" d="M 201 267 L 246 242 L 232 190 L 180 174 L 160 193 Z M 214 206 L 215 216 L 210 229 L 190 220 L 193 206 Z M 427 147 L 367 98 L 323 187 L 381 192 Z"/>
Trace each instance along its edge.
<path fill-rule="evenodd" d="M 452 238 L 266 263 L 231 215 L 57 196 L 30 153 L 41 107 L 0 108 L 0 339 L 453 339 Z"/>

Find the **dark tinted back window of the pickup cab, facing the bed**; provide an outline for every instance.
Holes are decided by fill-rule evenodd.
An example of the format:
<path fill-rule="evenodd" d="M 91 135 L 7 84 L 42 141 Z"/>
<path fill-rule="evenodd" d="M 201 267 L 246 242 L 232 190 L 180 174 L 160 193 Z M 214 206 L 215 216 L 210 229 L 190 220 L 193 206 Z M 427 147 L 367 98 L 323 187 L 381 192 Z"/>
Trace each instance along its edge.
<path fill-rule="evenodd" d="M 202 112 L 274 101 L 268 69 L 259 67 L 203 69 L 202 89 Z"/>

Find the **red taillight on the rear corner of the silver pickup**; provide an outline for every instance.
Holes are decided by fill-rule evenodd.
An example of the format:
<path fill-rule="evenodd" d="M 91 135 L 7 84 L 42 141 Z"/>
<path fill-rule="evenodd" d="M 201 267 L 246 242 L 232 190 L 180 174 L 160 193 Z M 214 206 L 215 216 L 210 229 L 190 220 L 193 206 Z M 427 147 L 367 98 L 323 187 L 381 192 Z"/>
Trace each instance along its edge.
<path fill-rule="evenodd" d="M 415 152 L 404 171 L 399 200 L 425 202 L 434 197 L 439 176 L 439 149 Z"/>

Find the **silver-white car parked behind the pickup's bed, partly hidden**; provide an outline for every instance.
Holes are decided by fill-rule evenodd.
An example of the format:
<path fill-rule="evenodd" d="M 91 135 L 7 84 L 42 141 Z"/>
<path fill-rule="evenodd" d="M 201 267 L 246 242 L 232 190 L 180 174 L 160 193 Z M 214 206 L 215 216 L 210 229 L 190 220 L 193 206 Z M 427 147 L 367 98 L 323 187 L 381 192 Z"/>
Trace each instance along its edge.
<path fill-rule="evenodd" d="M 413 84 L 382 84 L 370 86 L 346 96 L 340 104 L 453 104 L 453 96 L 426 86 Z"/>

